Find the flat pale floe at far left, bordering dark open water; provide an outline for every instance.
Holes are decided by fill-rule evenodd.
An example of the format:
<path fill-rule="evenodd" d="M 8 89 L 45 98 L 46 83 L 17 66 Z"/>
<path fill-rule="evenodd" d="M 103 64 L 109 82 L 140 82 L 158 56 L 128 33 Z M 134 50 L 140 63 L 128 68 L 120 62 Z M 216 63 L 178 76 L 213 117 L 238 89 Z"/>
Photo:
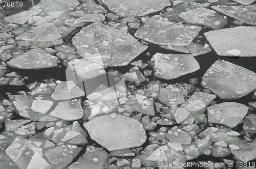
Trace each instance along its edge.
<path fill-rule="evenodd" d="M 31 49 L 7 62 L 7 65 L 18 69 L 45 69 L 57 66 L 58 58 L 43 49 Z"/>

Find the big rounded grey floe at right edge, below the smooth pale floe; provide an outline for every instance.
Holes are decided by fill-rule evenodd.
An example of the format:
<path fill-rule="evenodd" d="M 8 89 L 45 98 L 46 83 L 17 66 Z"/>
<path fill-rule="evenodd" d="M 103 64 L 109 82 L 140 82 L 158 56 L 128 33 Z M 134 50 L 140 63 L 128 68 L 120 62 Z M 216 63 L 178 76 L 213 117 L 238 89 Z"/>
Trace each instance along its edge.
<path fill-rule="evenodd" d="M 226 61 L 216 61 L 206 71 L 201 85 L 221 99 L 239 99 L 256 89 L 256 73 Z"/>

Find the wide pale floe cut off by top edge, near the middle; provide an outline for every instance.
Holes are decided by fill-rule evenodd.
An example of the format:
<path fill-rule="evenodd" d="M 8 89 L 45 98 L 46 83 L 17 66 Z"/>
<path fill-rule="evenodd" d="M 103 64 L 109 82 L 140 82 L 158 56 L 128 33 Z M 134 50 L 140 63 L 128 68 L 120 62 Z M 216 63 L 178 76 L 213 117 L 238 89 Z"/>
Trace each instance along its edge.
<path fill-rule="evenodd" d="M 103 4 L 121 17 L 145 16 L 170 6 L 168 0 L 103 0 Z"/>

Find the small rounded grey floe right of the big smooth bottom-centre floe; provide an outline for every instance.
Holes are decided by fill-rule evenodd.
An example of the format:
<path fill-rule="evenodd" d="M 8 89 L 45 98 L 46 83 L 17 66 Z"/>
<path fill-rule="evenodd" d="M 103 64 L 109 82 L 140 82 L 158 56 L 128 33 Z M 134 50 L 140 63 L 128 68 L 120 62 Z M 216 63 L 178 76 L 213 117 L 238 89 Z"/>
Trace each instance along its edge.
<path fill-rule="evenodd" d="M 166 134 L 166 138 L 169 142 L 180 143 L 182 145 L 188 145 L 191 143 L 192 138 L 184 131 L 169 130 Z"/>

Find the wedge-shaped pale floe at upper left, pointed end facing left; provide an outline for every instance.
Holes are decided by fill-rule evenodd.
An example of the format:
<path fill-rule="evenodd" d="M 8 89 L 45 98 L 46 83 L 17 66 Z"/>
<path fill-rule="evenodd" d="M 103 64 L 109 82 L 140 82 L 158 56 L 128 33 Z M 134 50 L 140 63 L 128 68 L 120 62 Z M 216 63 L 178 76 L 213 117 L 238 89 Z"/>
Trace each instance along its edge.
<path fill-rule="evenodd" d="M 48 42 L 60 39 L 57 27 L 52 23 L 40 24 L 18 35 L 15 40 L 28 42 Z"/>

